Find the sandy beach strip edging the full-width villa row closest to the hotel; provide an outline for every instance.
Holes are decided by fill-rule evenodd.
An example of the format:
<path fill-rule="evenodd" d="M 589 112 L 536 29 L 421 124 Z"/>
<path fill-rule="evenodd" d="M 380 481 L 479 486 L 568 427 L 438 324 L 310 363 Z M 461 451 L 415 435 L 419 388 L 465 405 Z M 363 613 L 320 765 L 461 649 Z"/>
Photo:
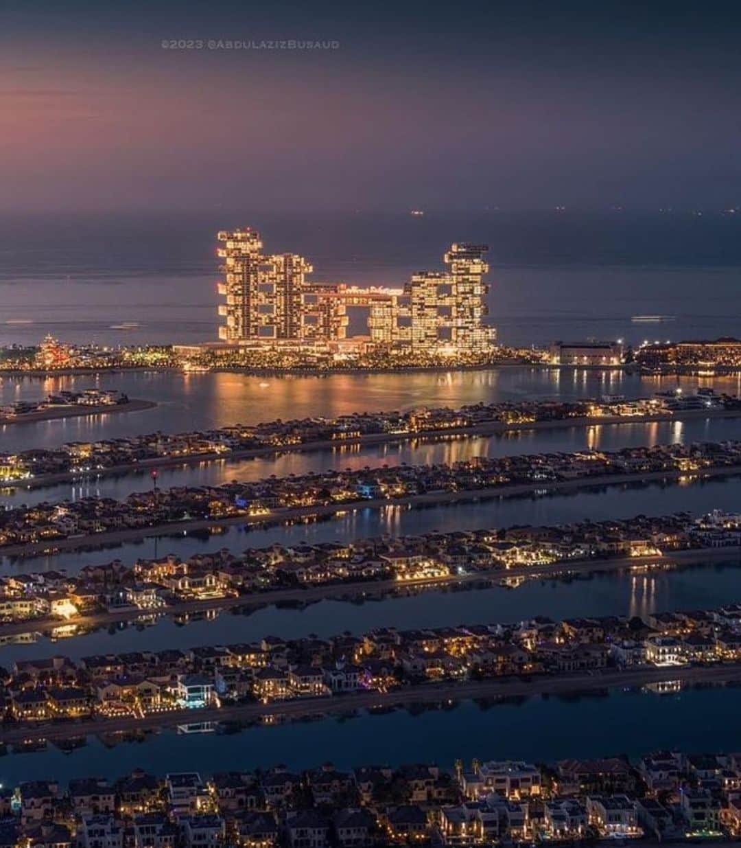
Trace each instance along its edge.
<path fill-rule="evenodd" d="M 135 403 L 135 401 L 131 401 Z M 148 403 L 148 401 L 139 401 Z M 156 405 L 156 404 L 153 404 Z M 149 407 L 145 407 L 149 408 Z M 133 410 L 132 410 L 133 411 Z M 136 463 L 126 463 L 119 466 L 99 468 L 92 472 L 75 473 L 73 471 L 60 471 L 57 474 L 45 474 L 42 477 L 31 477 L 28 480 L 10 481 L 8 486 L 19 489 L 46 488 L 59 483 L 75 483 L 81 479 L 98 479 L 100 477 L 112 477 L 116 475 L 128 475 L 139 470 L 146 471 L 152 468 L 168 468 L 173 466 L 191 466 L 202 462 L 229 462 L 230 460 L 258 459 L 264 456 L 279 456 L 293 453 L 312 453 L 321 450 L 342 449 L 351 446 L 372 446 L 376 444 L 406 444 L 415 440 L 441 441 L 445 438 L 497 436 L 509 432 L 528 432 L 532 430 L 558 430 L 569 427 L 600 427 L 619 426 L 627 424 L 651 424 L 671 421 L 697 421 L 722 418 L 741 417 L 741 407 L 738 410 L 678 410 L 676 412 L 657 412 L 643 416 L 592 416 L 581 418 L 563 418 L 544 421 L 526 421 L 522 423 L 504 423 L 502 421 L 491 421 L 490 423 L 477 424 L 474 427 L 449 427 L 440 430 L 429 430 L 418 433 L 371 433 L 365 436 L 343 439 L 324 439 L 319 442 L 305 442 L 304 444 L 287 444 L 281 447 L 249 448 L 233 450 L 228 454 L 203 453 L 187 456 L 163 456 L 152 457 Z M 2 424 L 2 420 L 0 420 Z M 2 552 L 2 549 L 0 549 Z"/>

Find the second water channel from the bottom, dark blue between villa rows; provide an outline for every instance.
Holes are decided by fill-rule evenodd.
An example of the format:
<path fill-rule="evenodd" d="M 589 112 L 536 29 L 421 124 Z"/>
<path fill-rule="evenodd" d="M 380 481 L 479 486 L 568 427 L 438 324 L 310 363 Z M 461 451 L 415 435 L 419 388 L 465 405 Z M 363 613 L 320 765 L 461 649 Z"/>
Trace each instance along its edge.
<path fill-rule="evenodd" d="M 187 619 L 160 617 L 154 623 L 120 623 L 67 639 L 47 639 L 36 634 L 35 639 L 23 644 L 6 644 L 0 651 L 0 665 L 19 659 L 41 659 L 58 652 L 79 659 L 129 650 L 250 642 L 271 633 L 291 639 L 309 633 L 326 638 L 345 630 L 365 633 L 376 627 L 519 622 L 537 615 L 561 619 L 582 616 L 587 611 L 594 616 L 641 616 L 645 620 L 654 611 L 712 609 L 734 600 L 741 601 L 741 561 L 683 566 L 650 576 L 599 572 L 568 580 L 528 580 L 516 589 L 498 585 L 406 589 L 380 599 L 322 600 L 304 608 L 281 605 L 245 612 L 209 611 Z"/>

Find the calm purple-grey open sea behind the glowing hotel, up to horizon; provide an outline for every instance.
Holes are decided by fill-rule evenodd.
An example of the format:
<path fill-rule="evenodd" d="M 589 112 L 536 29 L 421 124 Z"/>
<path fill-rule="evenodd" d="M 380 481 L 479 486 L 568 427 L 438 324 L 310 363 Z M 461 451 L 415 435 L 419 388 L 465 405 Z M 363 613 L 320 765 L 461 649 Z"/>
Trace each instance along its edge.
<path fill-rule="evenodd" d="M 0 220 L 0 344 L 47 332 L 107 344 L 215 338 L 215 232 L 232 226 L 258 229 L 267 250 L 304 254 L 315 280 L 360 285 L 400 285 L 439 268 L 449 243 L 485 242 L 491 321 L 505 343 L 738 334 L 741 215 L 214 209 Z M 359 332 L 363 316 L 351 321 Z"/>

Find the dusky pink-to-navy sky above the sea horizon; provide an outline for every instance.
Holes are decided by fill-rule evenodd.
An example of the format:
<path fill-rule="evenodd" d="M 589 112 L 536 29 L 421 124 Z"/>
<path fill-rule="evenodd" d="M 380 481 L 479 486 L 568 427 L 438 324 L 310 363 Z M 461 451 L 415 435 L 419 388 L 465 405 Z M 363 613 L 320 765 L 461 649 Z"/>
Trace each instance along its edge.
<path fill-rule="evenodd" d="M 728 3 L 0 4 L 0 211 L 741 203 Z M 171 49 L 170 40 L 337 42 Z"/>

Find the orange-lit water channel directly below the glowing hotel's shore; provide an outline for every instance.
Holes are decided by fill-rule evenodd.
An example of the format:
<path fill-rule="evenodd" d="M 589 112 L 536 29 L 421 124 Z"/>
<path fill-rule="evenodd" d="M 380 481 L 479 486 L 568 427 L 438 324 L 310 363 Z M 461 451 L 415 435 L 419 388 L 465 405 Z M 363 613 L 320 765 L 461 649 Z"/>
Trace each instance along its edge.
<path fill-rule="evenodd" d="M 733 377 L 642 377 L 621 371 L 560 371 L 526 366 L 487 371 L 433 371 L 404 374 L 336 374 L 330 377 L 264 377 L 248 374 L 136 372 L 16 379 L 0 382 L 0 405 L 41 399 L 61 389 L 114 388 L 131 398 L 153 400 L 153 410 L 106 416 L 37 421 L 0 429 L 8 450 L 52 447 L 64 441 L 115 438 L 136 432 L 182 431 L 304 416 L 337 416 L 354 411 L 406 410 L 422 405 L 490 403 L 524 398 L 580 398 L 603 394 L 650 396 L 660 389 L 698 385 L 741 392 Z"/>

